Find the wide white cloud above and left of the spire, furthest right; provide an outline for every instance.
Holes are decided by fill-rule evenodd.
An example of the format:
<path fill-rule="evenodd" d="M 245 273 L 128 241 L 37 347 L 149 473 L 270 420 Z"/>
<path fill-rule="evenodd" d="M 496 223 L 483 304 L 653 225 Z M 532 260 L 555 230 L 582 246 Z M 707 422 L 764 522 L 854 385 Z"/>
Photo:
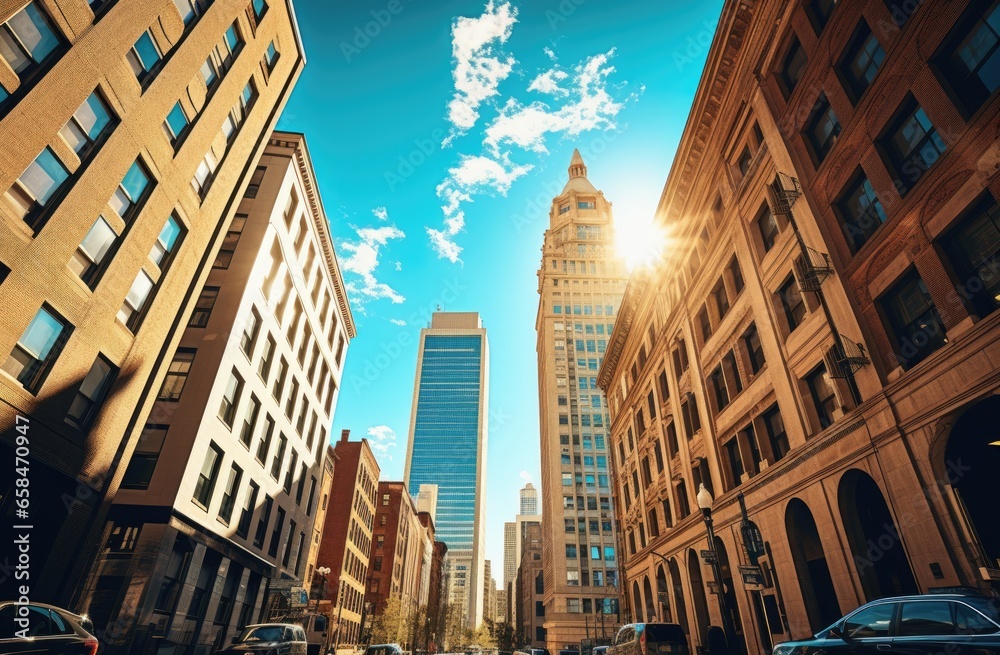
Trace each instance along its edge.
<path fill-rule="evenodd" d="M 502 145 L 515 145 L 526 150 L 546 153 L 547 134 L 576 136 L 594 129 L 614 129 L 615 117 L 625 107 L 626 101 L 617 101 L 608 90 L 608 76 L 615 72 L 608 61 L 614 49 L 587 58 L 573 71 L 570 90 L 559 86 L 558 81 L 569 76 L 558 67 L 536 77 L 529 90 L 561 96 L 566 91 L 568 101 L 561 107 L 552 107 L 541 101 L 527 105 L 511 98 L 501 108 L 499 115 L 486 128 L 483 143 L 494 152 Z"/>

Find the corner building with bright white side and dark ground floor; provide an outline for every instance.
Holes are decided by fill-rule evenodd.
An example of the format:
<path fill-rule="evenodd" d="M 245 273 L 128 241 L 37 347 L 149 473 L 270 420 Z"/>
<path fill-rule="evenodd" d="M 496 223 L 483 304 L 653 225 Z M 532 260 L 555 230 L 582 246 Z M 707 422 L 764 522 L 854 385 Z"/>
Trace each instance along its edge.
<path fill-rule="evenodd" d="M 354 325 L 302 135 L 272 134 L 186 326 L 81 602 L 140 651 L 220 648 L 307 586 Z"/>

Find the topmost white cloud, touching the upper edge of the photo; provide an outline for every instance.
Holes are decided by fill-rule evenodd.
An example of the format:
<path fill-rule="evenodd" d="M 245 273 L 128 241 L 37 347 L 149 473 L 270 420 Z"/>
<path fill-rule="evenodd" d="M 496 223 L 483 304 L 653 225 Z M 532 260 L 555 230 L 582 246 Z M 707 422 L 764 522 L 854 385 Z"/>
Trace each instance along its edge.
<path fill-rule="evenodd" d="M 509 2 L 490 0 L 478 18 L 455 19 L 451 27 L 452 77 L 455 93 L 448 103 L 448 120 L 457 128 L 446 140 L 469 129 L 479 120 L 479 106 L 497 95 L 497 86 L 510 75 L 517 62 L 494 51 L 510 38 L 517 22 L 517 8 Z M 501 58 L 502 57 L 502 58 Z"/>

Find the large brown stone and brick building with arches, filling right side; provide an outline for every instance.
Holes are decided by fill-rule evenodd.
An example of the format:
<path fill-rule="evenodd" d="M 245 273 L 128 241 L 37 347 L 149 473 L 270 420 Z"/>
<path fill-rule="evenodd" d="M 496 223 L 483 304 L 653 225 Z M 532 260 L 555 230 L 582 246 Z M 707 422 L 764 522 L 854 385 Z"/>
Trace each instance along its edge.
<path fill-rule="evenodd" d="M 998 12 L 725 3 L 600 374 L 633 619 L 769 653 L 875 598 L 996 591 L 998 55 L 966 46 Z"/>

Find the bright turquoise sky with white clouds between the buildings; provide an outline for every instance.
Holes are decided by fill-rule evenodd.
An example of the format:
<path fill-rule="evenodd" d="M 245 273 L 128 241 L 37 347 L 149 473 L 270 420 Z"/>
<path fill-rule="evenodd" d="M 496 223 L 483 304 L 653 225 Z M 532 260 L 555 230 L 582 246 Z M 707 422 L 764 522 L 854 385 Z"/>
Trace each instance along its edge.
<path fill-rule="evenodd" d="M 299 0 L 306 134 L 358 336 L 331 434 L 399 480 L 419 331 L 478 311 L 491 350 L 487 548 L 538 486 L 536 271 L 574 147 L 620 235 L 648 226 L 721 0 Z"/>

